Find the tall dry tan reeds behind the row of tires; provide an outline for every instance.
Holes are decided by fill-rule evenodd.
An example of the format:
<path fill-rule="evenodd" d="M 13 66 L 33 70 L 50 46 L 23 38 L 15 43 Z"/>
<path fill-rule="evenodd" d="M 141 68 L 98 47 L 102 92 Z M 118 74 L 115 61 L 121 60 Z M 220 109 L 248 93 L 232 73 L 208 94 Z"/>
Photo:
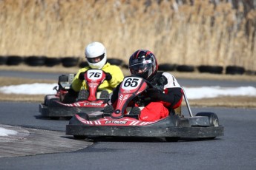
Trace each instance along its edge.
<path fill-rule="evenodd" d="M 253 3 L 190 2 L 1 0 L 0 55 L 81 57 L 86 44 L 102 41 L 124 61 L 148 49 L 160 64 L 255 70 L 256 11 L 245 10 Z"/>

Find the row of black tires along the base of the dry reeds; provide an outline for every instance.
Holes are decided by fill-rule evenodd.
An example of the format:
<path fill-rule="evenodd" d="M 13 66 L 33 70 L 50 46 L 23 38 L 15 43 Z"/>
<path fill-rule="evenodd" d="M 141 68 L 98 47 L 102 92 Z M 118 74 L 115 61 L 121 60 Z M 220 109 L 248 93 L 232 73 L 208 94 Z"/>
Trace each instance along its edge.
<path fill-rule="evenodd" d="M 128 64 L 118 58 L 108 58 L 110 64 L 120 66 L 124 69 L 128 69 Z M 22 57 L 19 55 L 0 55 L 0 66 L 16 66 L 19 64 L 27 64 L 31 67 L 46 66 L 53 67 L 62 64 L 63 67 L 88 67 L 87 61 L 79 61 L 79 57 L 65 57 L 65 58 L 53 58 L 46 56 L 28 56 Z M 244 67 L 238 66 L 227 66 L 224 70 L 221 66 L 209 66 L 200 65 L 194 67 L 192 65 L 177 65 L 177 64 L 159 64 L 160 71 L 177 71 L 177 72 L 206 72 L 212 74 L 227 74 L 227 75 L 256 75 L 256 70 L 246 70 Z"/>

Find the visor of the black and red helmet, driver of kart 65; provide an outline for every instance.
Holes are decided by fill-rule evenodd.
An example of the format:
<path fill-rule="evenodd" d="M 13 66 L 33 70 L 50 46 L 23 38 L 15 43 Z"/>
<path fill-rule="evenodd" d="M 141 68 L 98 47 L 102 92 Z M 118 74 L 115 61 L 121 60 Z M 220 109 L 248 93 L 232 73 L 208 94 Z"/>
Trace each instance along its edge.
<path fill-rule="evenodd" d="M 151 69 L 153 66 L 151 60 L 145 60 L 140 62 L 134 62 L 133 64 L 130 64 L 129 69 L 132 75 L 138 75 L 142 72 L 148 71 L 148 69 Z"/>

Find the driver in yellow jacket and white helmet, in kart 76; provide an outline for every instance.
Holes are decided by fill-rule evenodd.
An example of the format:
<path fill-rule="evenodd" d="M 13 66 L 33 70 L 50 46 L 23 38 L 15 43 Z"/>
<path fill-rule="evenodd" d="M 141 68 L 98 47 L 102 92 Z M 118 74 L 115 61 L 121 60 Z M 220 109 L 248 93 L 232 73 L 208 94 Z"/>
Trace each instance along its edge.
<path fill-rule="evenodd" d="M 113 89 L 122 81 L 124 75 L 122 70 L 107 62 L 107 52 L 102 43 L 92 42 L 85 47 L 85 58 L 88 61 L 88 67 L 79 69 L 70 86 L 68 94 L 65 95 L 63 103 L 73 103 L 81 89 L 87 89 L 85 83 L 85 72 L 88 69 L 102 69 L 105 74 L 105 80 L 99 85 L 99 90 L 108 90 L 111 93 Z"/>

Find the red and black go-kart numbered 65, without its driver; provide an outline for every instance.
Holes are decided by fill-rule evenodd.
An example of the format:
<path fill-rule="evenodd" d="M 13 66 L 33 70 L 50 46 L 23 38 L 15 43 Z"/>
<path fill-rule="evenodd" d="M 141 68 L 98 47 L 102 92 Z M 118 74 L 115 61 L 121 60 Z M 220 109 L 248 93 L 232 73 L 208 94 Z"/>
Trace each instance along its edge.
<path fill-rule="evenodd" d="M 128 112 L 130 101 L 140 101 L 140 94 L 150 84 L 142 78 L 128 76 L 119 88 L 116 109 L 105 106 L 103 111 L 78 112 L 66 126 L 66 135 L 74 138 L 85 137 L 165 137 L 167 141 L 180 138 L 214 139 L 222 136 L 224 127 L 220 126 L 217 115 L 213 112 L 199 112 L 193 115 L 183 89 L 189 116 L 175 111 L 167 118 L 154 121 L 142 121 L 138 118 L 139 107 L 132 107 Z M 146 92 L 146 91 L 145 91 Z M 177 109 L 178 110 L 178 109 Z"/>

